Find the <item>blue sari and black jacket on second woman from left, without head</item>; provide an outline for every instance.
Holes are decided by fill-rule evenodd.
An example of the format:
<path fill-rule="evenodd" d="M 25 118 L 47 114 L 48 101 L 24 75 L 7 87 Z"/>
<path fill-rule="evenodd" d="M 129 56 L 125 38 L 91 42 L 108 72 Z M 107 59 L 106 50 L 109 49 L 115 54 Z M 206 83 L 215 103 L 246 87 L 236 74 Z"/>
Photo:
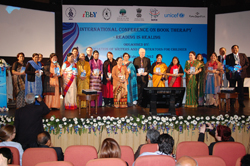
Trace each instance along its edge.
<path fill-rule="evenodd" d="M 42 70 L 42 64 L 40 62 L 37 62 L 36 64 L 33 60 L 28 61 L 27 67 L 25 70 L 25 73 L 26 73 L 25 96 L 28 93 L 33 93 L 35 96 L 36 95 L 42 96 L 42 92 L 43 92 L 42 77 L 41 75 L 37 75 L 35 74 L 35 72 L 33 72 L 36 70 Z M 34 82 L 28 80 L 29 74 L 35 75 Z"/>

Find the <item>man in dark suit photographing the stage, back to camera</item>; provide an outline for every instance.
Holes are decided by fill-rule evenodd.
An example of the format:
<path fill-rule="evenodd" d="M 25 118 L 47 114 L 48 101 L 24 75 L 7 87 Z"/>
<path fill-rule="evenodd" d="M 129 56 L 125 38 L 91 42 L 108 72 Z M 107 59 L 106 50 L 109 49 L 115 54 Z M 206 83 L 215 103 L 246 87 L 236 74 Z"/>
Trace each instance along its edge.
<path fill-rule="evenodd" d="M 16 141 L 19 142 L 23 150 L 29 147 L 37 147 L 37 135 L 43 129 L 42 118 L 50 112 L 50 109 L 38 96 L 29 93 L 25 97 L 26 106 L 19 108 L 15 113 Z"/>

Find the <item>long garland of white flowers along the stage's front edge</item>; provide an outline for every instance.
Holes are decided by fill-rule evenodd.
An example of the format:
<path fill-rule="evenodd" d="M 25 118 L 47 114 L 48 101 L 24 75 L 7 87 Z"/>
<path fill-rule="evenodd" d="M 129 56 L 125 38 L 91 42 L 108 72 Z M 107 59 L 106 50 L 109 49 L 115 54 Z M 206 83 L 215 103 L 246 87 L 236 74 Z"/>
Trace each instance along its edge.
<path fill-rule="evenodd" d="M 104 130 L 108 134 L 117 134 L 118 130 L 123 132 L 132 131 L 137 134 L 139 130 L 146 132 L 148 129 L 155 128 L 162 132 L 167 132 L 171 130 L 177 130 L 180 133 L 183 130 L 194 131 L 199 129 L 206 122 L 211 123 L 214 127 L 217 125 L 232 125 L 232 132 L 235 132 L 236 127 L 241 131 L 242 129 L 247 132 L 250 129 L 250 116 L 245 115 L 234 115 L 229 116 L 218 115 L 218 116 L 178 116 L 178 117 L 160 117 L 160 116 L 148 116 L 138 115 L 135 116 L 125 116 L 122 118 L 114 118 L 110 116 L 98 116 L 97 118 L 62 118 L 58 119 L 55 116 L 51 116 L 49 119 L 43 119 L 43 127 L 46 131 L 50 133 L 62 134 L 62 131 L 67 133 L 75 133 L 81 135 L 82 133 L 101 133 Z M 0 125 L 14 124 L 14 117 L 7 117 L 6 115 L 0 116 Z"/>

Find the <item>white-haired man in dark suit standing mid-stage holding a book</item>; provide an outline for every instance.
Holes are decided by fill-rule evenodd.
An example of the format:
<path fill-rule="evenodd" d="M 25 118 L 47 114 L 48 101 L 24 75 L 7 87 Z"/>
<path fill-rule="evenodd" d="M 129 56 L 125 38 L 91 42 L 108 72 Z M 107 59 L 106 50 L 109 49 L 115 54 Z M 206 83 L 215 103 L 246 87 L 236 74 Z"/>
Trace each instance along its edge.
<path fill-rule="evenodd" d="M 147 87 L 148 85 L 148 73 L 151 68 L 150 59 L 145 57 L 145 49 L 140 48 L 139 49 L 139 57 L 134 59 L 134 66 L 136 69 L 136 75 L 137 75 L 137 86 L 138 86 L 138 103 L 137 105 L 142 105 L 142 99 L 143 99 L 143 89 Z M 138 69 L 143 68 L 143 73 L 138 73 Z"/>

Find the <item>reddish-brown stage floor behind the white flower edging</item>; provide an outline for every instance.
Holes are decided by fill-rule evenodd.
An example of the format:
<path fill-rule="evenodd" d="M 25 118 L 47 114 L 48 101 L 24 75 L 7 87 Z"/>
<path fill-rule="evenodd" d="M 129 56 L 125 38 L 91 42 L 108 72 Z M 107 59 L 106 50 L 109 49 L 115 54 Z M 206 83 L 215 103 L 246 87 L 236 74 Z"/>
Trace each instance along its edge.
<path fill-rule="evenodd" d="M 231 108 L 229 115 L 250 115 L 250 99 L 245 98 L 244 100 L 245 108 L 239 108 L 236 110 Z M 0 115 L 7 115 L 7 116 L 15 116 L 15 103 L 8 104 L 8 108 L 10 109 L 8 112 L 0 112 Z M 34 110 L 35 111 L 35 110 Z M 133 106 L 123 109 L 117 108 L 110 108 L 110 107 L 98 107 L 97 110 L 98 114 L 95 115 L 95 108 L 91 108 L 91 116 L 111 116 L 111 117 L 125 117 L 125 116 L 138 116 L 138 115 L 145 115 L 149 116 L 149 108 L 142 108 L 139 106 Z M 157 113 L 164 114 L 167 113 L 168 109 L 158 108 Z M 212 116 L 212 115 L 220 115 L 226 114 L 226 111 L 219 111 L 219 108 L 210 108 L 210 107 L 198 107 L 198 108 L 185 108 L 184 106 L 180 108 L 176 108 L 177 116 Z M 89 115 L 86 111 L 86 108 L 82 108 L 79 114 L 79 109 L 76 110 L 65 110 L 63 105 L 63 100 L 61 100 L 61 108 L 60 110 L 52 109 L 49 114 L 45 116 L 45 118 L 50 118 L 52 115 L 55 115 L 56 118 L 89 118 Z"/>

